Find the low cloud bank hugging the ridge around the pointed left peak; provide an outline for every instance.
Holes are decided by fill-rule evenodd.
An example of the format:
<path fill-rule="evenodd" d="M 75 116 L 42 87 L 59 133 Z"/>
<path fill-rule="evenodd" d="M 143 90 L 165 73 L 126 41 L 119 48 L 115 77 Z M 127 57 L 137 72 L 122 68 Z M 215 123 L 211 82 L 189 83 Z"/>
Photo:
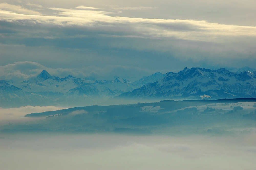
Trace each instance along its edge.
<path fill-rule="evenodd" d="M 96 80 L 114 80 L 120 76 L 129 78 L 130 81 L 136 81 L 145 75 L 157 72 L 157 70 L 121 65 L 105 65 L 104 67 L 87 66 L 72 69 L 50 68 L 36 62 L 24 61 L 0 66 L 0 80 L 23 82 L 30 78 L 35 78 L 43 70 L 61 78 L 72 75 L 78 78 L 88 77 Z"/>

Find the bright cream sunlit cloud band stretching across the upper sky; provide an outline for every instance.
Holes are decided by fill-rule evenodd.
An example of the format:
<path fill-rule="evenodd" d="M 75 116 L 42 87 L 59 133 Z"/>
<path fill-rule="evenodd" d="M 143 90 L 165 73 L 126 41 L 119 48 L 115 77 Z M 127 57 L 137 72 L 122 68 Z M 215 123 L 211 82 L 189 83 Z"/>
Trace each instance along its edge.
<path fill-rule="evenodd" d="M 86 6 L 76 8 L 97 9 Z M 256 36 L 256 27 L 252 26 L 225 25 L 203 20 L 129 18 L 110 16 L 109 14 L 112 13 L 99 10 L 50 9 L 56 10 L 56 15 L 28 15 L 19 13 L 19 11 L 14 13 L 7 10 L 1 10 L 0 14 L 1 20 L 10 22 L 26 20 L 30 24 L 78 25 L 91 28 L 99 26 L 106 28 L 113 26 L 126 27 L 126 25 L 129 25 L 131 29 L 130 36 L 133 36 L 132 32 L 135 31 L 144 38 L 170 37 L 183 40 L 225 42 L 228 40 L 227 37 Z"/>

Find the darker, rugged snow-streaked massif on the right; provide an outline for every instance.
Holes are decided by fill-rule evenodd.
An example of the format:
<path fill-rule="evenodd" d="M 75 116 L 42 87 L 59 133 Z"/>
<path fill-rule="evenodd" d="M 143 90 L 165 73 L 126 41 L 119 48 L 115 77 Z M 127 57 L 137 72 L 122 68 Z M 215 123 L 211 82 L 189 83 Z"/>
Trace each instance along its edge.
<path fill-rule="evenodd" d="M 177 97 L 209 95 L 211 97 L 255 97 L 256 75 L 187 67 L 178 73 L 168 72 L 161 80 L 143 85 L 121 97 Z"/>

